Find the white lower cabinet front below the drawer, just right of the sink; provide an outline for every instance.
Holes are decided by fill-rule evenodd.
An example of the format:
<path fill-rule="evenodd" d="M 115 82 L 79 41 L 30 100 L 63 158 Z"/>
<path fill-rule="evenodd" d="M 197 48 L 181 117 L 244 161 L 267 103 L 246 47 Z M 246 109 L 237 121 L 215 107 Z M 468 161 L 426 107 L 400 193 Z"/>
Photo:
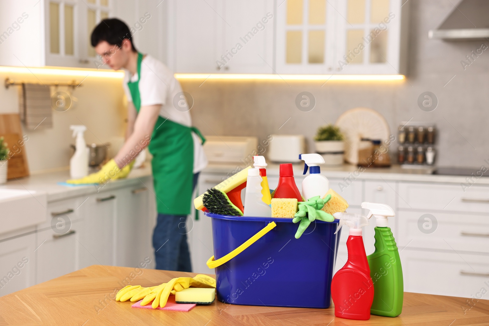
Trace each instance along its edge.
<path fill-rule="evenodd" d="M 57 233 L 51 228 L 37 233 L 36 283 L 79 269 L 79 239 L 80 232 L 83 232 L 83 223 L 83 220 L 74 221 L 64 233 Z"/>

